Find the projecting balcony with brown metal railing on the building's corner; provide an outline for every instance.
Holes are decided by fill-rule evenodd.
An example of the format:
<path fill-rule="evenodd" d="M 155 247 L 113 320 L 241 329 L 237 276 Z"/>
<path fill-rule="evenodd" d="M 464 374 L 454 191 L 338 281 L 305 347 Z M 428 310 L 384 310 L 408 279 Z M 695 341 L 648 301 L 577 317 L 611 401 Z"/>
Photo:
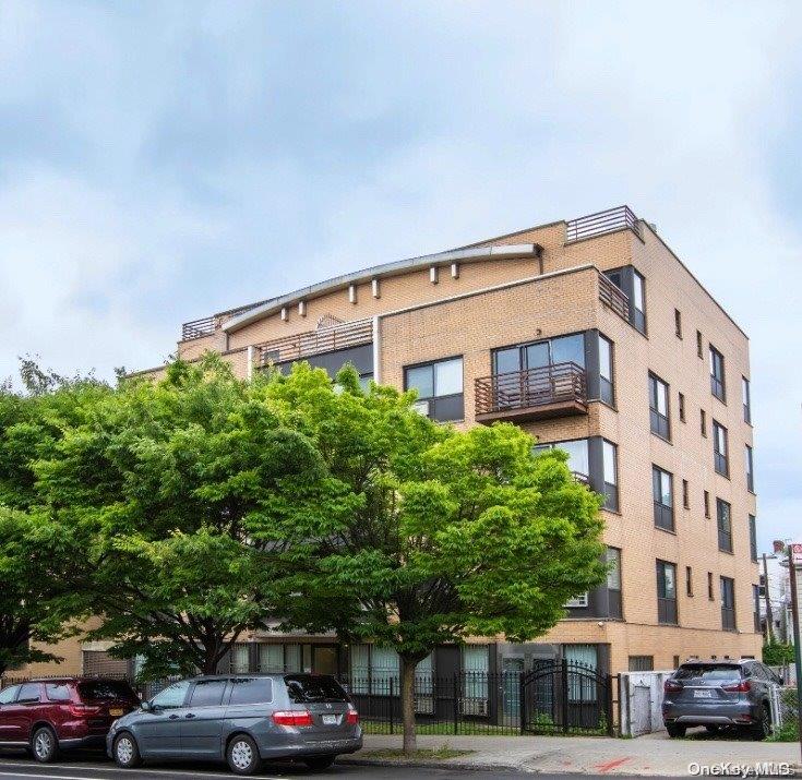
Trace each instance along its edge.
<path fill-rule="evenodd" d="M 587 377 L 576 363 L 554 363 L 476 380 L 476 421 L 547 420 L 587 413 Z"/>

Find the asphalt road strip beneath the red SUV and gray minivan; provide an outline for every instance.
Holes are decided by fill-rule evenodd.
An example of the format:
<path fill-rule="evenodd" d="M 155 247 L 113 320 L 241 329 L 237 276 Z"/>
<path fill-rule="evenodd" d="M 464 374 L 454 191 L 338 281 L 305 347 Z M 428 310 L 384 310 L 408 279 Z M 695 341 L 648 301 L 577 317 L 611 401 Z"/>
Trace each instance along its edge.
<path fill-rule="evenodd" d="M 527 772 L 488 772 L 456 769 L 427 769 L 415 767 L 371 767 L 349 764 L 335 764 L 324 772 L 311 773 L 304 767 L 272 764 L 267 765 L 258 777 L 262 780 L 294 780 L 294 778 L 337 778 L 338 780 L 404 780 L 404 778 L 434 778 L 434 780 L 494 780 L 496 778 L 529 778 Z M 222 764 L 153 764 L 141 769 L 122 771 L 111 761 L 97 754 L 73 754 L 62 763 L 52 765 L 37 764 L 23 754 L 5 753 L 0 756 L 0 780 L 218 780 L 236 777 L 228 772 Z M 538 775 L 538 780 L 588 780 L 605 775 Z M 617 776 L 615 780 L 627 780 Z M 663 779 L 666 780 L 666 779 Z M 670 779 L 668 779 L 670 780 Z"/>

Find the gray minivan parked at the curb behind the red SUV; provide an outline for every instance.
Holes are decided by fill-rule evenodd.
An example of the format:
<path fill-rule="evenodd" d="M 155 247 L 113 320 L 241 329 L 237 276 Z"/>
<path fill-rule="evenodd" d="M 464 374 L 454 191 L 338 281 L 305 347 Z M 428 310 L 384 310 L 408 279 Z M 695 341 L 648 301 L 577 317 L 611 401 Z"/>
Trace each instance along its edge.
<path fill-rule="evenodd" d="M 181 680 L 111 724 L 117 765 L 143 759 L 228 761 L 254 775 L 267 758 L 325 769 L 362 746 L 359 715 L 326 674 L 222 674 Z"/>

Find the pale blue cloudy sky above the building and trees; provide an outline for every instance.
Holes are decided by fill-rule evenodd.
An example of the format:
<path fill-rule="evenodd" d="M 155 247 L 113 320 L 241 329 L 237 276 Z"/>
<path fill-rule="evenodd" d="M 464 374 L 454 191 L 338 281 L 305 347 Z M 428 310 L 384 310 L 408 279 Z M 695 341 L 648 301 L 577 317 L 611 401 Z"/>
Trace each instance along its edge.
<path fill-rule="evenodd" d="M 0 377 L 630 204 L 752 345 L 758 533 L 802 538 L 802 4 L 0 4 Z"/>

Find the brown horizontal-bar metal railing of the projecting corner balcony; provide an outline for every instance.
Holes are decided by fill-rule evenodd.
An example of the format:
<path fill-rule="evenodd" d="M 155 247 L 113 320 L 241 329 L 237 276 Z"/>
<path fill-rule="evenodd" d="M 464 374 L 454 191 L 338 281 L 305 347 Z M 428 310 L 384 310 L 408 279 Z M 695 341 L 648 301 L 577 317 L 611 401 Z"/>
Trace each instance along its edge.
<path fill-rule="evenodd" d="M 573 362 L 511 371 L 476 380 L 477 415 L 571 401 L 587 403 L 585 369 Z"/>

